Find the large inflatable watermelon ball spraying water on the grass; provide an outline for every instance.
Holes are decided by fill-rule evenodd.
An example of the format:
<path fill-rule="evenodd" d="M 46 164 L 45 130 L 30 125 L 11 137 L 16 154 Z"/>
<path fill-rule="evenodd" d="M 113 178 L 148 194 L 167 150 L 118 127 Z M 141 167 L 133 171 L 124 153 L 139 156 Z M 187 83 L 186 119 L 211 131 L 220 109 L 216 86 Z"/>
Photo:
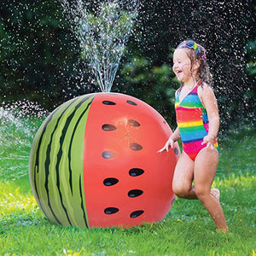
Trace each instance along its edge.
<path fill-rule="evenodd" d="M 145 102 L 116 93 L 79 96 L 49 114 L 32 143 L 32 192 L 53 224 L 132 227 L 165 218 L 175 195 L 176 143 Z"/>

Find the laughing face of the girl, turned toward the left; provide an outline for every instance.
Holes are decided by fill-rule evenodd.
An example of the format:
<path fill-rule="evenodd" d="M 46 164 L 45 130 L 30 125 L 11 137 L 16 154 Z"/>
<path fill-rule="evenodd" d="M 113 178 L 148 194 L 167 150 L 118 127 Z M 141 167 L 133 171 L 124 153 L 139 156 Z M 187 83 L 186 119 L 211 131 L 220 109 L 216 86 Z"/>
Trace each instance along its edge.
<path fill-rule="evenodd" d="M 186 49 L 180 48 L 174 51 L 172 70 L 180 82 L 186 83 L 193 78 L 191 60 L 186 53 Z"/>

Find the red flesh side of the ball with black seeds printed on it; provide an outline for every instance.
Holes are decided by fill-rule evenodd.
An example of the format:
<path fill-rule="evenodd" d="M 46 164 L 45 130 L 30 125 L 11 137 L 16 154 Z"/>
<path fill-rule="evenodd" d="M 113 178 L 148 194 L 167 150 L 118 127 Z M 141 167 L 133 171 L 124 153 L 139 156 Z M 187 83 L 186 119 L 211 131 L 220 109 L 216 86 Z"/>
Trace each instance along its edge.
<path fill-rule="evenodd" d="M 90 227 L 131 227 L 165 218 L 172 207 L 177 143 L 157 154 L 171 128 L 132 96 L 99 93 L 84 133 L 84 194 Z"/>

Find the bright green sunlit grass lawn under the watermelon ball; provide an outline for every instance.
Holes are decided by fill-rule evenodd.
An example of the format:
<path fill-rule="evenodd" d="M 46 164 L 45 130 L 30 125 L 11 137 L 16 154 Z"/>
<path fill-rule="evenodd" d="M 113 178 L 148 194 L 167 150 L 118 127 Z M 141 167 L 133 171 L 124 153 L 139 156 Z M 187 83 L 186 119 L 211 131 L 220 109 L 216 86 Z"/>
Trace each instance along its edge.
<path fill-rule="evenodd" d="M 255 255 L 255 131 L 230 131 L 220 143 L 213 186 L 221 190 L 231 233 L 216 232 L 199 201 L 182 199 L 160 223 L 82 230 L 50 224 L 38 208 L 27 168 L 40 120 L 22 122 L 20 130 L 0 126 L 0 255 Z"/>

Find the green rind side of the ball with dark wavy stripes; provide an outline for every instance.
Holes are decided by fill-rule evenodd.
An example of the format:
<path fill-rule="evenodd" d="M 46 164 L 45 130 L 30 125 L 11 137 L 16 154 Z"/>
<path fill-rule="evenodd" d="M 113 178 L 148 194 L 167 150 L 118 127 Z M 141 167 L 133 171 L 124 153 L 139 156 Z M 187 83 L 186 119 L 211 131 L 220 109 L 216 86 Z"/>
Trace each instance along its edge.
<path fill-rule="evenodd" d="M 32 145 L 33 193 L 45 216 L 54 224 L 90 227 L 84 195 L 83 150 L 94 97 L 80 96 L 56 108 L 41 125 Z"/>

